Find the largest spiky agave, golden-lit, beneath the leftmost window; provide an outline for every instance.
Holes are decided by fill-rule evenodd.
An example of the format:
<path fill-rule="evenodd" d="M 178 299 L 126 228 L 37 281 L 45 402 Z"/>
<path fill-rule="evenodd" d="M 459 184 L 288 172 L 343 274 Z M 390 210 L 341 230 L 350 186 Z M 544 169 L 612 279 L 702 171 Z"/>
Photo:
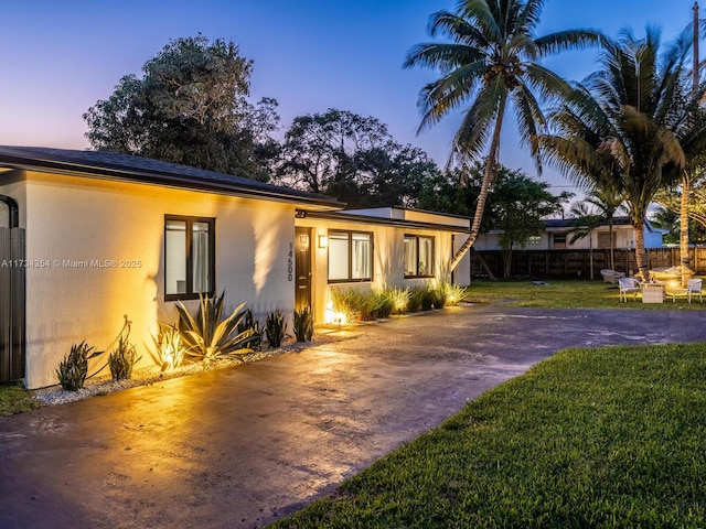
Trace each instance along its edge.
<path fill-rule="evenodd" d="M 200 295 L 196 317 L 191 315 L 183 303 L 176 303 L 184 353 L 201 359 L 204 366 L 220 357 L 242 359 L 243 355 L 253 353 L 250 344 L 254 331 L 237 332 L 245 314 L 245 303 L 240 303 L 228 317 L 223 319 L 224 298 L 225 292 L 215 298 Z"/>

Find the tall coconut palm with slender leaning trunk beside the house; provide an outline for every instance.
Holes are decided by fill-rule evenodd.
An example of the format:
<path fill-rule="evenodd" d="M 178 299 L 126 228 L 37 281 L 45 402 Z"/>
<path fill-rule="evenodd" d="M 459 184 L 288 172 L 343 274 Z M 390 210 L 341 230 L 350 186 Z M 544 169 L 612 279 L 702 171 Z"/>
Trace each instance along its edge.
<path fill-rule="evenodd" d="M 420 91 L 419 131 L 470 101 L 453 137 L 449 165 L 478 156 L 490 141 L 469 238 L 453 257 L 451 270 L 480 231 L 488 190 L 498 174 L 507 107 L 514 106 L 522 141 L 530 145 L 541 171 L 537 133 L 546 121 L 534 91 L 542 97 L 561 96 L 568 93 L 568 85 L 538 60 L 600 39 L 590 30 L 535 36 L 543 6 L 544 0 L 461 0 L 456 12 L 438 11 L 429 20 L 429 34 L 446 35 L 451 42 L 418 44 L 404 63 L 405 67 L 429 67 L 441 74 Z"/>

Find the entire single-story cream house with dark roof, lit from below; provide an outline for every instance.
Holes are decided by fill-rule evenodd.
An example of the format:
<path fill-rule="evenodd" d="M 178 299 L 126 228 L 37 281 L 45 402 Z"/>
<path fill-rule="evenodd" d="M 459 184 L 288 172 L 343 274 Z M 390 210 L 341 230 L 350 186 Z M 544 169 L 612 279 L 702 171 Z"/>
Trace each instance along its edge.
<path fill-rule="evenodd" d="M 0 147 L 0 377 L 56 384 L 72 344 L 113 347 L 124 315 L 149 361 L 158 321 L 199 293 L 263 320 L 310 303 L 321 323 L 333 284 L 450 278 L 468 218 L 343 206 L 137 156 Z"/>

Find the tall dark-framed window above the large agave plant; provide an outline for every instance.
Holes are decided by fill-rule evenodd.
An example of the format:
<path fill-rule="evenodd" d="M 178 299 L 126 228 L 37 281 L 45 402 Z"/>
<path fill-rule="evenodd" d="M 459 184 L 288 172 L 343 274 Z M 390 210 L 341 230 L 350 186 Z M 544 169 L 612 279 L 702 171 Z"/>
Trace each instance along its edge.
<path fill-rule="evenodd" d="M 215 277 L 215 220 L 164 217 L 164 299 L 213 295 Z"/>

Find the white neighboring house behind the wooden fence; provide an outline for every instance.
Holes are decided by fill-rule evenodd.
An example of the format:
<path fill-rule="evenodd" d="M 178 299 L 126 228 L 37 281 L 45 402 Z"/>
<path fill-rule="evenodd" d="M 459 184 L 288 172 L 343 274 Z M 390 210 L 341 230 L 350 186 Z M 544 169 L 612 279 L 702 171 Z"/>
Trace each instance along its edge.
<path fill-rule="evenodd" d="M 573 244 L 571 235 L 576 229 L 576 219 L 553 218 L 544 220 L 545 230 L 531 237 L 524 245 L 525 250 L 584 250 L 589 248 L 588 236 L 577 239 Z M 668 233 L 652 226 L 650 220 L 644 223 L 645 248 L 662 248 L 662 237 Z M 473 247 L 479 250 L 499 250 L 502 230 L 491 230 L 480 234 Z M 610 231 L 608 223 L 602 224 L 591 234 L 593 249 L 610 248 Z M 628 217 L 613 218 L 613 248 L 633 249 L 635 247 L 634 228 Z"/>

